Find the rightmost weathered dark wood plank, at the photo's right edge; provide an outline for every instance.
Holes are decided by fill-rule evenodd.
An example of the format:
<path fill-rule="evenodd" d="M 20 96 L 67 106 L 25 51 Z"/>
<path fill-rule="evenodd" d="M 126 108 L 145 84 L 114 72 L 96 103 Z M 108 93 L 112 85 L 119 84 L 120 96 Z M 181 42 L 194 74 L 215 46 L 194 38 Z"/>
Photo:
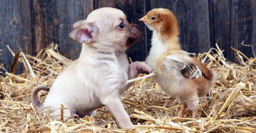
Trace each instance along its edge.
<path fill-rule="evenodd" d="M 231 1 L 231 44 L 248 57 L 254 57 L 256 52 L 256 1 L 232 0 Z M 253 45 L 245 47 L 241 45 Z M 234 60 L 235 57 L 234 57 Z"/>

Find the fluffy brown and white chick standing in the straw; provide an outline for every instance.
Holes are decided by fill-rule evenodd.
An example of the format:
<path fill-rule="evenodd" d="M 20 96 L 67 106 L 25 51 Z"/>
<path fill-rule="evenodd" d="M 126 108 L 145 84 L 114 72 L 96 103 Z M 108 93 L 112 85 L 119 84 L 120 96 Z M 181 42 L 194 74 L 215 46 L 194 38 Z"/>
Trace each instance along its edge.
<path fill-rule="evenodd" d="M 181 50 L 178 21 L 171 11 L 153 9 L 139 21 L 153 31 L 146 63 L 156 71 L 155 80 L 165 93 L 182 103 L 178 117 L 182 117 L 188 107 L 196 118 L 199 98 L 207 96 L 217 74 Z"/>

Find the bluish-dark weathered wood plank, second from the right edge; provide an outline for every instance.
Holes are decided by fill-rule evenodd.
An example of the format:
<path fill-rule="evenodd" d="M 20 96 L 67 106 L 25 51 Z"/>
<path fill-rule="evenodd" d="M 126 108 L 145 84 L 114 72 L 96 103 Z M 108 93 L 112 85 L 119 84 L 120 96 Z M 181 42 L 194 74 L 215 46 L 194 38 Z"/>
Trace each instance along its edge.
<path fill-rule="evenodd" d="M 211 46 L 218 45 L 224 49 L 223 55 L 230 61 L 233 61 L 233 51 L 231 44 L 231 16 L 229 0 L 209 0 L 210 12 L 210 34 Z"/>

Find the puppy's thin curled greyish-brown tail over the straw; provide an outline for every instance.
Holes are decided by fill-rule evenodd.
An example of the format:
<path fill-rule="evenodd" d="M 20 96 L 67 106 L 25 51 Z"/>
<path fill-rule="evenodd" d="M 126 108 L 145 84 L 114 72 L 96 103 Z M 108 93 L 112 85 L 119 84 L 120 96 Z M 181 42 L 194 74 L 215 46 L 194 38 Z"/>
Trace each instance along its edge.
<path fill-rule="evenodd" d="M 32 93 L 31 93 L 31 101 L 32 101 L 32 104 L 34 105 L 35 108 L 39 108 L 41 109 L 43 104 L 39 101 L 38 99 L 38 92 L 40 90 L 45 90 L 45 91 L 48 91 L 50 90 L 50 88 L 48 88 L 47 86 L 44 86 L 44 85 L 39 85 L 39 86 L 36 86 Z"/>

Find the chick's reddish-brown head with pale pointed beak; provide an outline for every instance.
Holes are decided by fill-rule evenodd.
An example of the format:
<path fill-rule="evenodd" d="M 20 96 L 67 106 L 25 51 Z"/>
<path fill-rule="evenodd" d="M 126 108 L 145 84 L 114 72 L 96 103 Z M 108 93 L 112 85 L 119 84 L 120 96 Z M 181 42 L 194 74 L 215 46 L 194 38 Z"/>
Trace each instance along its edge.
<path fill-rule="evenodd" d="M 168 9 L 153 9 L 139 21 L 144 22 L 151 31 L 162 35 L 178 36 L 179 34 L 178 21 Z"/>

